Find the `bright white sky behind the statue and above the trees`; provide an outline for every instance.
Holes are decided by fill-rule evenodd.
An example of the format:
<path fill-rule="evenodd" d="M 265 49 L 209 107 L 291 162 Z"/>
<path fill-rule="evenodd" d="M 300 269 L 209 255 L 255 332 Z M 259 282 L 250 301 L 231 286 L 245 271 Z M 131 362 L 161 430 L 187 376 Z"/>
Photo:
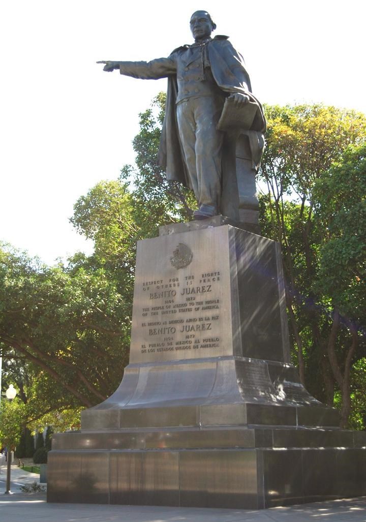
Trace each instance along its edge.
<path fill-rule="evenodd" d="M 97 60 L 151 60 L 190 43 L 207 9 L 244 56 L 262 102 L 366 112 L 364 0 L 3 0 L 0 240 L 52 264 L 91 252 L 68 218 L 77 198 L 132 163 L 138 113 L 166 80 L 103 73 Z"/>

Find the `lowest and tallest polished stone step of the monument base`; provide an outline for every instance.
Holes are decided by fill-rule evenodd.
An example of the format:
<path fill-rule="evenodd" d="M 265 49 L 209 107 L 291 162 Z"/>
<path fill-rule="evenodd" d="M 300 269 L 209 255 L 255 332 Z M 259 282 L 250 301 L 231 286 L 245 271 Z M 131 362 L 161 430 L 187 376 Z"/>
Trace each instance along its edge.
<path fill-rule="evenodd" d="M 365 462 L 361 448 L 53 450 L 48 500 L 261 509 L 364 493 Z"/>

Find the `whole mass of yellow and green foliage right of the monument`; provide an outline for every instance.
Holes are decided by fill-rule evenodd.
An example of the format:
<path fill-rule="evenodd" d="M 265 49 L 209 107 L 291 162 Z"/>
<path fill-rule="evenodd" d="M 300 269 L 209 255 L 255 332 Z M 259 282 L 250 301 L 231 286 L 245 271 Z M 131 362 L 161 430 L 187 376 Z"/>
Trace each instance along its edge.
<path fill-rule="evenodd" d="M 366 117 L 323 105 L 266 117 L 261 223 L 282 247 L 293 355 L 313 395 L 332 405 L 339 392 L 346 425 L 363 350 Z"/>

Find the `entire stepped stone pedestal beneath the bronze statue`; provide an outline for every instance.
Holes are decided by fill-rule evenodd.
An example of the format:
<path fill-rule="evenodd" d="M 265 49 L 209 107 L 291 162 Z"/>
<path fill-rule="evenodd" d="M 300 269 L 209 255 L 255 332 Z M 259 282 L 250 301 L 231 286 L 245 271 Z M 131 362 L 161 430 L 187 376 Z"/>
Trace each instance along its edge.
<path fill-rule="evenodd" d="M 120 387 L 55 434 L 48 500 L 264 508 L 366 494 L 366 434 L 289 363 L 277 243 L 228 218 L 140 241 Z"/>

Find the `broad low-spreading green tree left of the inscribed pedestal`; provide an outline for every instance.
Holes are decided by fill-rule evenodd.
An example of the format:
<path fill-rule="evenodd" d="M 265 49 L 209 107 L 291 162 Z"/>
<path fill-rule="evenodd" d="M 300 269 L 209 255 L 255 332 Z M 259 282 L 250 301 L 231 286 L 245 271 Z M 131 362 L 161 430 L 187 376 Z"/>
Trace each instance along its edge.
<path fill-rule="evenodd" d="M 127 359 L 130 311 L 92 257 L 47 267 L 9 246 L 0 250 L 2 354 L 42 371 L 33 385 L 55 398 L 53 409 L 90 407 L 114 391 Z"/>

